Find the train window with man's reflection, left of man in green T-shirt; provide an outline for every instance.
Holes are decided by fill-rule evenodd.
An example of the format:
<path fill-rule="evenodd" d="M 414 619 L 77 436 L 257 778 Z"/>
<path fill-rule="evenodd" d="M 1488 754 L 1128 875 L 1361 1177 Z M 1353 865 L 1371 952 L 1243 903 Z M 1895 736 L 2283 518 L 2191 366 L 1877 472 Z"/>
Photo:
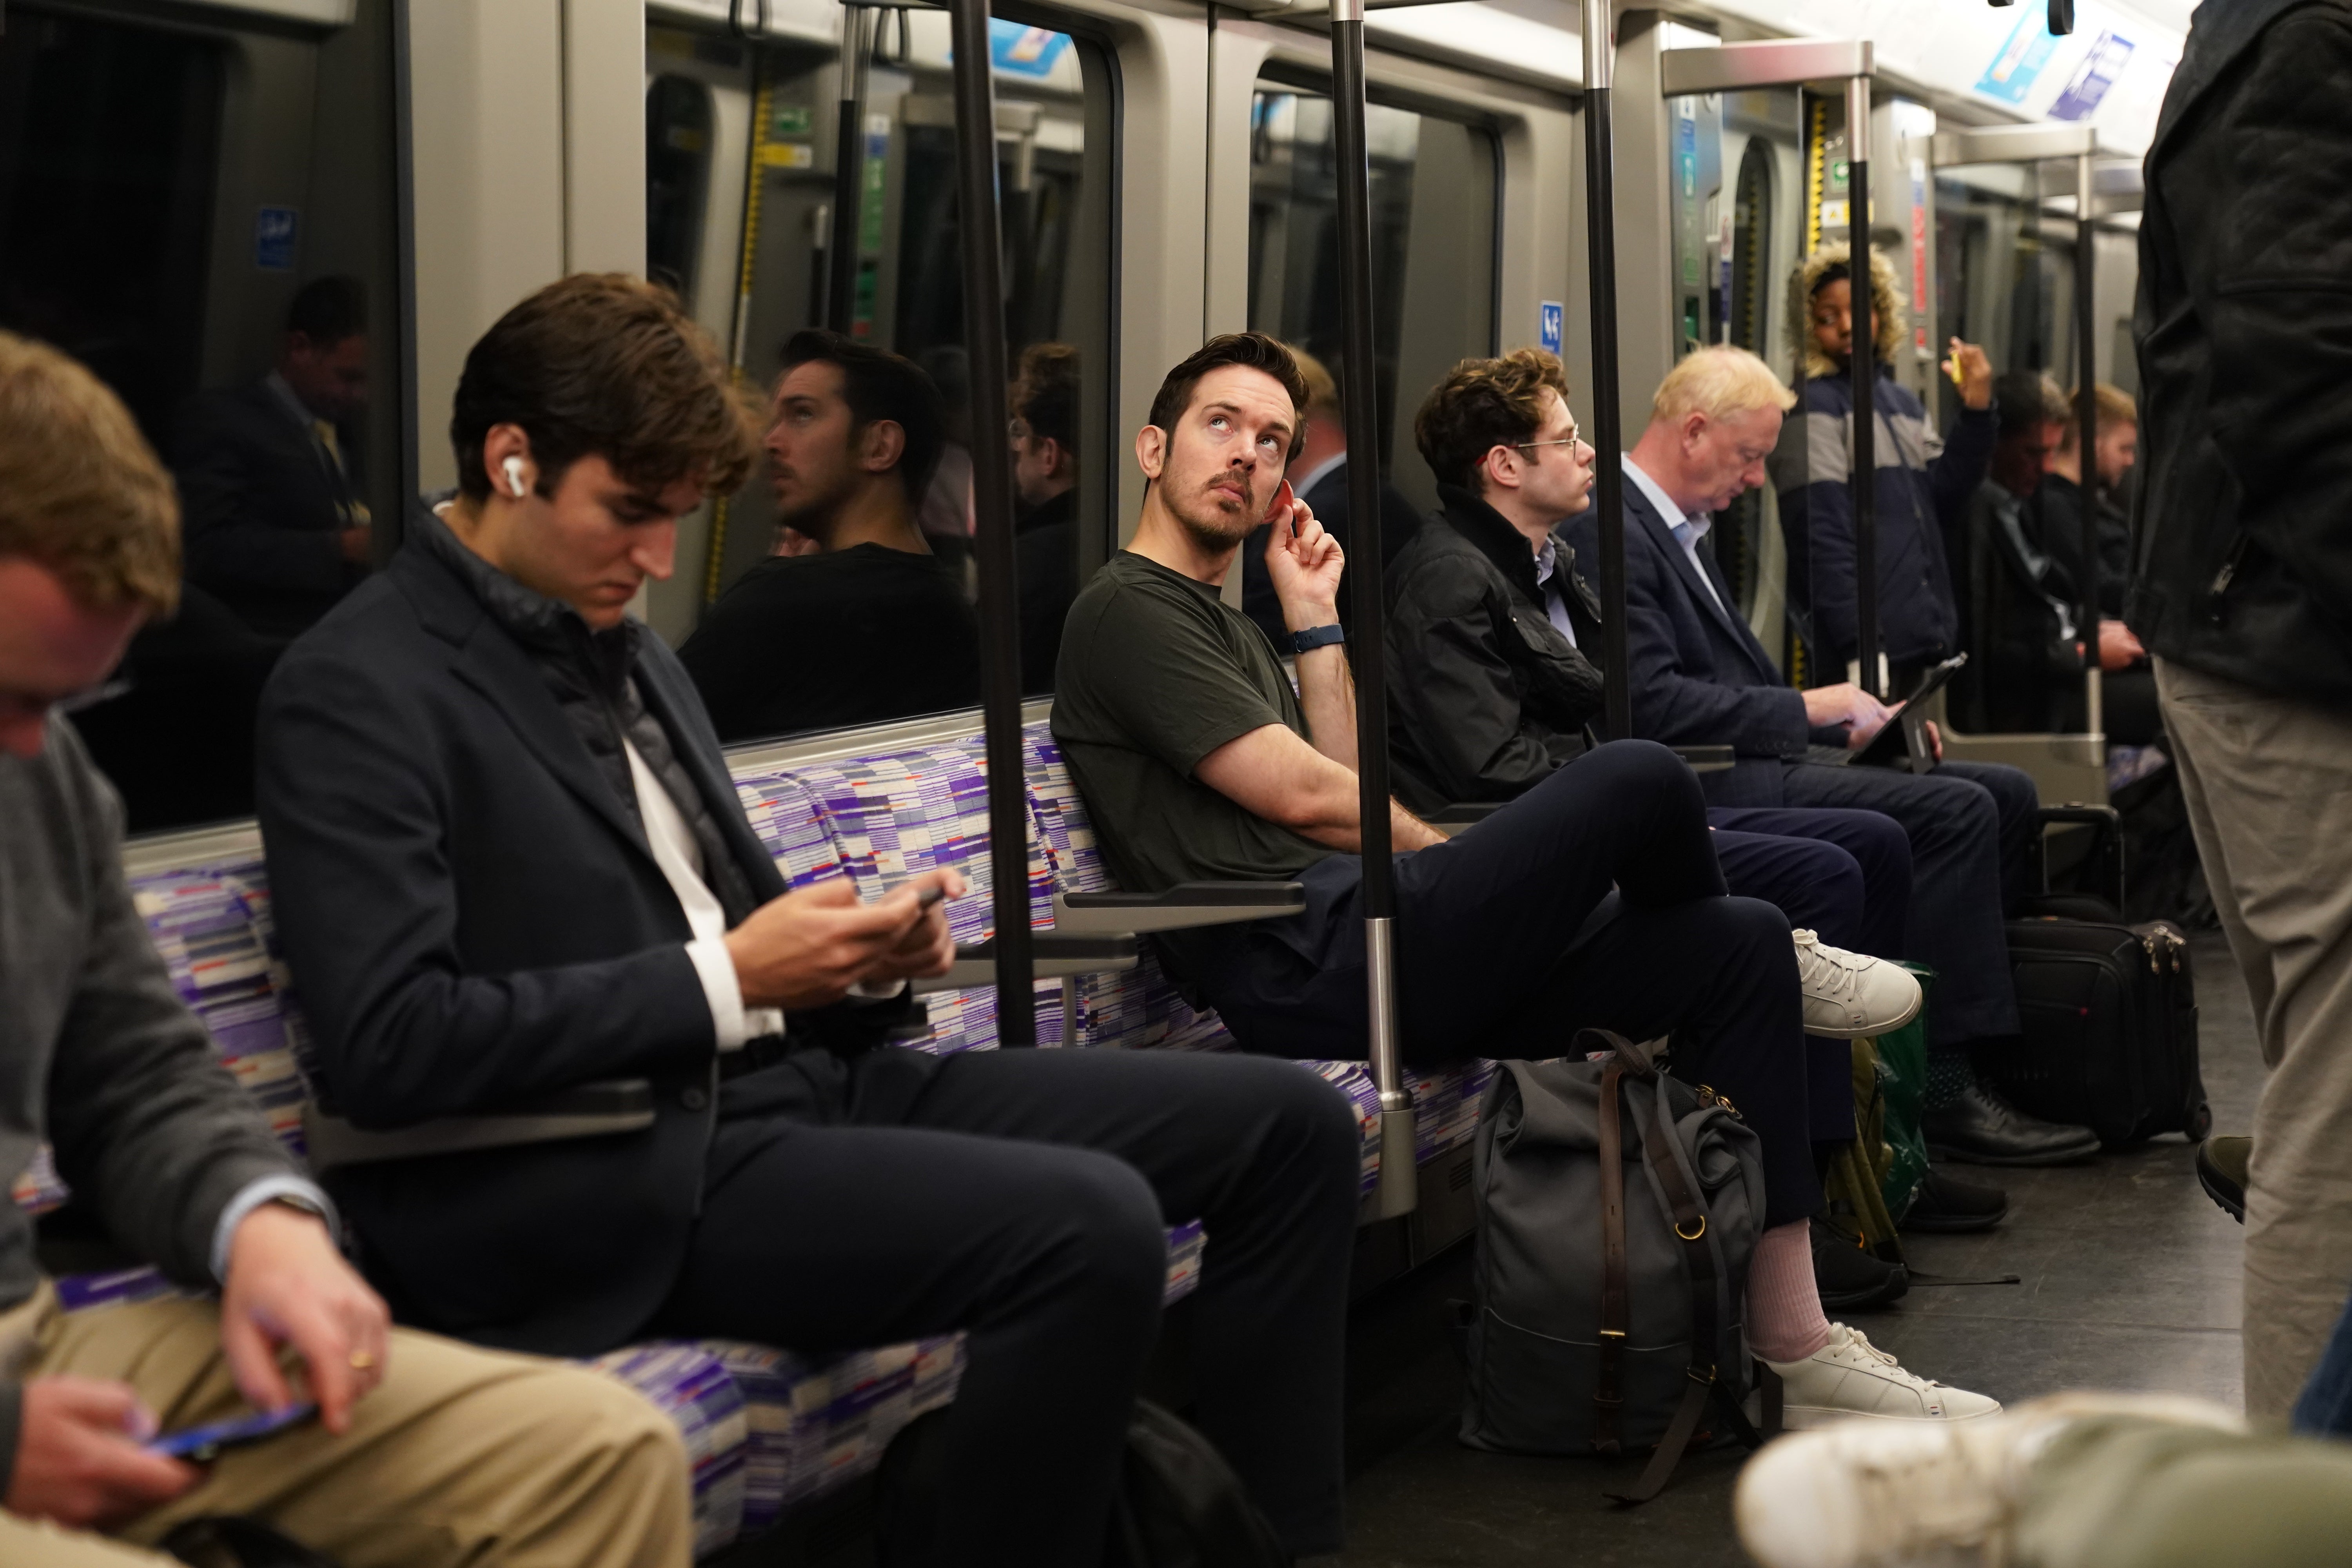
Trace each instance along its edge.
<path fill-rule="evenodd" d="M 943 12 L 861 9 L 863 103 L 851 129 L 856 216 L 842 221 L 842 38 L 734 40 L 652 28 L 663 80 L 708 94 L 710 249 L 680 287 L 746 383 L 769 400 L 771 461 L 680 538 L 680 574 L 647 618 L 694 672 L 722 738 L 750 741 L 978 703 L 971 442 L 1014 449 L 1023 686 L 1049 691 L 1061 621 L 1110 550 L 1112 63 L 1091 40 L 995 19 L 1004 327 L 1011 430 L 974 430 L 955 195 L 955 89 Z M 680 99 L 684 103 L 684 99 Z M 649 101 L 649 134 L 663 115 Z M 652 209 L 677 202 L 649 165 Z M 729 214 L 724 235 L 720 214 Z M 833 254 L 851 247 L 849 287 Z M 849 357 L 887 350 L 922 374 L 797 362 L 795 334 L 833 324 Z M 863 430 L 936 393 L 943 428 L 873 468 Z M 856 402 L 866 414 L 849 411 Z M 934 416 L 908 414 L 910 425 Z M 906 430 L 906 428 L 903 428 Z M 910 430 L 906 430 L 910 433 Z M 929 473 L 917 477 L 915 465 Z"/>

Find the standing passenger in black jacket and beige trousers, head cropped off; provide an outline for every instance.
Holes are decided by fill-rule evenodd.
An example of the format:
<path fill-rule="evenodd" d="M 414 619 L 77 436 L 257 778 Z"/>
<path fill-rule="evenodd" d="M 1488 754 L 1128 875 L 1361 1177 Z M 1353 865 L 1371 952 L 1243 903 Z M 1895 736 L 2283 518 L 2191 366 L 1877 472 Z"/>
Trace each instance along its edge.
<path fill-rule="evenodd" d="M 2147 146 L 2124 621 L 2270 1063 L 2246 1413 L 2286 1420 L 2352 1288 L 2352 5 L 2190 24 Z M 2314 172 L 2324 172 L 2317 174 Z"/>

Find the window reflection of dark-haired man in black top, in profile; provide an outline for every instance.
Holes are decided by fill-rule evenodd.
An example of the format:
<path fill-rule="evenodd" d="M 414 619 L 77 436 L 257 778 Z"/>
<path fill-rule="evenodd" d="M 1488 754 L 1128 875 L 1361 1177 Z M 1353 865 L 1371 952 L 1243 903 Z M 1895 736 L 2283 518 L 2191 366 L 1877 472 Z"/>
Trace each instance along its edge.
<path fill-rule="evenodd" d="M 818 550 L 755 564 L 677 651 L 720 741 L 981 701 L 978 621 L 915 527 L 943 442 L 913 362 L 833 331 L 783 346 L 769 477 L 781 527 Z"/>

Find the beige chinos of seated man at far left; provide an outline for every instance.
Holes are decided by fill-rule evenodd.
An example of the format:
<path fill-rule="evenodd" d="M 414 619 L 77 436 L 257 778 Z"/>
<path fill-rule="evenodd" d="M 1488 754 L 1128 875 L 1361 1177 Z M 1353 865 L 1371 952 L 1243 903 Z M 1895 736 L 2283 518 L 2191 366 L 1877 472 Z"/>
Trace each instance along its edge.
<path fill-rule="evenodd" d="M 219 1305 L 160 1300 L 64 1314 L 45 1284 L 0 1314 L 0 1368 L 139 1389 L 165 1432 L 245 1401 Z M 689 1568 L 687 1453 L 647 1399 L 579 1366 L 393 1331 L 383 1382 L 350 1432 L 294 1427 L 223 1453 L 191 1493 L 118 1540 L 0 1509 L 5 1568 L 162 1568 L 153 1542 L 242 1514 L 343 1568 Z"/>

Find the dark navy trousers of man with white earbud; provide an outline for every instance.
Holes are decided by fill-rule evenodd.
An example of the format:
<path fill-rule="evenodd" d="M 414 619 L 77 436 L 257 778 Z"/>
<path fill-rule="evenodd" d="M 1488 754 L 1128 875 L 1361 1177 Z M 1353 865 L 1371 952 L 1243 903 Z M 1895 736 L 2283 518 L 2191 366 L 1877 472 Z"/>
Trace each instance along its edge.
<path fill-rule="evenodd" d="M 962 1331 L 938 1568 L 1082 1568 L 1160 1333 L 1164 1227 L 1200 1218 L 1195 1420 L 1294 1552 L 1336 1552 L 1355 1107 L 1247 1056 L 910 1056 L 809 1048 L 720 1086 L 652 1331 L 802 1352 Z"/>

